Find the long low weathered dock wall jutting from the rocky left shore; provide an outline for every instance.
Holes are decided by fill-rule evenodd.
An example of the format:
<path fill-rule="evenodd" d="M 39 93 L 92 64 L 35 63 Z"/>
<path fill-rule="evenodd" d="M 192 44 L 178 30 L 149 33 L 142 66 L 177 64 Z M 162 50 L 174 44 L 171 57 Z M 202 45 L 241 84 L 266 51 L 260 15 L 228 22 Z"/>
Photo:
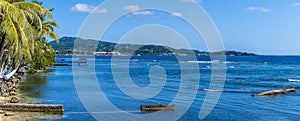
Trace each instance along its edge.
<path fill-rule="evenodd" d="M 48 112 L 63 113 L 64 108 L 61 104 L 0 104 L 0 109 L 4 111 L 19 112 Z"/>

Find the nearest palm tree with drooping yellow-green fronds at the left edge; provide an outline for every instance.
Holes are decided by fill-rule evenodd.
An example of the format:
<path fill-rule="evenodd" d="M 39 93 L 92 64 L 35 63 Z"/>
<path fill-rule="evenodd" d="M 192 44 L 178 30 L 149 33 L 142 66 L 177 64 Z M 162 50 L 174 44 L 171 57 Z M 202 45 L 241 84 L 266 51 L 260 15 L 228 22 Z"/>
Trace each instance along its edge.
<path fill-rule="evenodd" d="M 2 58 L 1 63 L 1 78 L 4 74 L 8 73 L 15 64 L 10 64 L 11 55 L 14 57 L 18 56 L 18 49 L 20 42 L 24 43 L 24 32 L 23 28 L 26 25 L 26 16 L 15 5 L 9 1 L 0 0 L 0 11 L 1 11 L 1 39 L 0 39 L 0 54 Z M 18 23 L 18 24 L 17 24 Z M 24 44 L 25 45 L 25 44 Z M 26 46 L 26 45 L 25 45 Z M 21 49 L 24 52 L 24 48 Z M 15 63 L 16 60 L 12 63 Z M 9 70 L 7 66 L 11 65 Z"/>

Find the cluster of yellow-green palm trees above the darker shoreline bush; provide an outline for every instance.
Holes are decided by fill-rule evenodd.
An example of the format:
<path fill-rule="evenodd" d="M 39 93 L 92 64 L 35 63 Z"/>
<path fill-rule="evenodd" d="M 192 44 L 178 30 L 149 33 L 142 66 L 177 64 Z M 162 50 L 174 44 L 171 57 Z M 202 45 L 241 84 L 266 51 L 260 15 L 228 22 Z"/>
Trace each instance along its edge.
<path fill-rule="evenodd" d="M 40 4 L 24 0 L 0 0 L 0 78 L 8 75 L 3 78 L 9 79 L 21 63 L 31 62 L 37 41 L 47 34 L 42 23 L 45 18 L 51 22 L 51 12 Z M 51 30 L 48 33 L 50 37 L 54 35 Z"/>

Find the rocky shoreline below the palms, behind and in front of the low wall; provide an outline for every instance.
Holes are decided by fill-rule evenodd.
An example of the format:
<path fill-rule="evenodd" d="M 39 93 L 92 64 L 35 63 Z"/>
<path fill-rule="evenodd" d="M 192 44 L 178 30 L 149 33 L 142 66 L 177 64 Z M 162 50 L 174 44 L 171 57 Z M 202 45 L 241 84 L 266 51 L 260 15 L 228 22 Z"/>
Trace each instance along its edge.
<path fill-rule="evenodd" d="M 48 69 L 48 68 L 47 68 Z M 0 104 L 42 104 L 41 99 L 27 96 L 22 89 L 23 83 L 27 83 L 28 77 L 16 73 L 9 80 L 0 80 Z M 23 85 L 24 86 L 24 85 Z M 11 103 L 13 97 L 17 98 L 16 103 Z M 24 112 L 24 111 L 5 111 L 0 113 L 0 121 L 19 121 L 19 120 L 49 120 L 60 119 L 63 115 L 51 114 L 47 112 Z M 5 116 L 5 113 L 10 113 L 12 116 Z"/>

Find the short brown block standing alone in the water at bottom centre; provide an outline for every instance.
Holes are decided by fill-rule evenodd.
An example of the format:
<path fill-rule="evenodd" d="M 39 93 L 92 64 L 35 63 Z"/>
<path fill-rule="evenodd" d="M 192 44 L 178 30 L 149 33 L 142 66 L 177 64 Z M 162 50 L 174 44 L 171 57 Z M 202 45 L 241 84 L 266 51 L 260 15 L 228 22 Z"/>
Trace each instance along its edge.
<path fill-rule="evenodd" d="M 174 111 L 174 104 L 155 104 L 155 105 L 141 105 L 142 112 L 153 112 L 153 111 Z"/>

